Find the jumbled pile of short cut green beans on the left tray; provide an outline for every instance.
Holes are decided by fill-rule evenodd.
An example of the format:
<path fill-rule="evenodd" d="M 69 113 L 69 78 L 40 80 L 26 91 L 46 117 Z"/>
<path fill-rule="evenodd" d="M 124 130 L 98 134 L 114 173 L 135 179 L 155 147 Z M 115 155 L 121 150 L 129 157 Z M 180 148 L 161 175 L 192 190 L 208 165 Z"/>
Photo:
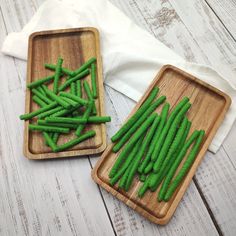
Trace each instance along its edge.
<path fill-rule="evenodd" d="M 96 107 L 95 100 L 99 97 L 99 91 L 95 57 L 90 58 L 76 70 L 64 67 L 61 57 L 58 57 L 55 65 L 47 63 L 44 66 L 54 71 L 54 74 L 27 84 L 27 88 L 33 94 L 32 102 L 37 104 L 39 109 L 21 115 L 20 119 L 30 120 L 29 130 L 41 132 L 45 144 L 53 152 L 60 152 L 94 137 L 96 132 L 94 130 L 84 132 L 85 127 L 90 124 L 100 125 L 110 122 L 111 117 L 99 116 Z M 63 82 L 65 76 L 66 80 Z M 67 135 L 67 138 L 72 132 L 76 138 L 58 144 L 61 135 Z"/>

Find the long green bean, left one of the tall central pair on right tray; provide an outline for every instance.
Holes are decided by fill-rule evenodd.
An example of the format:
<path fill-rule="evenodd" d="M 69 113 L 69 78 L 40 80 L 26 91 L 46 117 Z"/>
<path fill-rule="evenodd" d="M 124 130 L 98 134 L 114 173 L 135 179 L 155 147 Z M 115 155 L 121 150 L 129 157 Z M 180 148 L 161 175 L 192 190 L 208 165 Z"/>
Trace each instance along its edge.
<path fill-rule="evenodd" d="M 154 151 L 152 153 L 151 156 L 151 160 L 152 161 L 156 161 L 157 157 L 159 155 L 159 152 L 163 146 L 163 143 L 165 141 L 166 135 L 169 131 L 169 128 L 171 127 L 176 115 L 179 113 L 179 111 L 182 109 L 182 107 L 189 101 L 189 99 L 187 97 L 184 97 L 178 104 L 177 106 L 173 109 L 173 111 L 171 112 L 170 116 L 167 119 L 167 122 L 163 128 L 163 130 L 161 131 L 161 135 L 155 145 Z"/>

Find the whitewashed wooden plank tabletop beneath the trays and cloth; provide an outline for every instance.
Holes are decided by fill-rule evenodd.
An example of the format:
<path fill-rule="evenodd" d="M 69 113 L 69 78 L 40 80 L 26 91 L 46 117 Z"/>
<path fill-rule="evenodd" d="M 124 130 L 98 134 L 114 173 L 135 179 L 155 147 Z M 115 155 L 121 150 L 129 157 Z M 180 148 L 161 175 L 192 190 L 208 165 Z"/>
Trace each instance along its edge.
<path fill-rule="evenodd" d="M 0 0 L 0 45 L 42 2 Z M 235 0 L 111 2 L 187 60 L 236 78 Z M 99 156 L 23 157 L 25 78 L 25 62 L 0 54 L 0 235 L 236 235 L 236 124 L 219 152 L 206 154 L 170 223 L 158 226 L 93 183 Z M 110 137 L 134 102 L 105 88 Z"/>

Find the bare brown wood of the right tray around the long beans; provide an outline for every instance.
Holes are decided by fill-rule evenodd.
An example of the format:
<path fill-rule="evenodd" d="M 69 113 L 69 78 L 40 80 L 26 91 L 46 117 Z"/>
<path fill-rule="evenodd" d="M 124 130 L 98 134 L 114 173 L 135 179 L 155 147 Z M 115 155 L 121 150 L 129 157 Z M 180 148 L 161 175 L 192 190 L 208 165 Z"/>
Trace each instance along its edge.
<path fill-rule="evenodd" d="M 104 189 L 136 210 L 145 218 L 156 224 L 164 225 L 172 217 L 177 205 L 187 190 L 198 165 L 203 159 L 208 146 L 224 119 L 230 106 L 231 99 L 228 95 L 192 75 L 187 74 L 174 66 L 167 65 L 161 69 L 160 73 L 149 86 L 142 99 L 137 103 L 130 116 L 137 111 L 154 86 L 160 88 L 159 96 L 167 96 L 167 101 L 172 107 L 175 106 L 183 96 L 189 97 L 190 102 L 192 103 L 192 107 L 187 115 L 190 121 L 192 121 L 190 133 L 195 129 L 204 129 L 206 131 L 206 137 L 201 150 L 174 196 L 167 203 L 158 203 L 157 193 L 159 189 L 157 189 L 156 192 L 147 191 L 144 197 L 140 199 L 137 196 L 137 190 L 142 183 L 138 180 L 138 177 L 136 177 L 128 192 L 118 189 L 117 185 L 114 187 L 110 186 L 108 173 L 118 156 L 117 153 L 111 151 L 113 144 L 108 146 L 100 160 L 97 162 L 92 171 L 92 178 Z M 159 107 L 157 109 L 158 113 L 160 113 L 161 108 L 162 107 Z"/>

